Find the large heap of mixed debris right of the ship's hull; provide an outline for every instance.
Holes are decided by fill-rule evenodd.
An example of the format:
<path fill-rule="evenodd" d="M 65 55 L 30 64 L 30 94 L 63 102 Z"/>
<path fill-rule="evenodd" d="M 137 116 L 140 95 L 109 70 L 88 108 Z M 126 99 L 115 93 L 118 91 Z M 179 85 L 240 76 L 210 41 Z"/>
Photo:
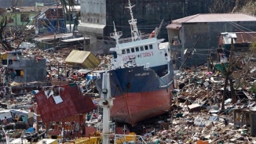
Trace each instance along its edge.
<path fill-rule="evenodd" d="M 223 98 L 225 76 L 207 67 L 181 70 L 175 75 L 169 117 L 144 124 L 144 141 L 156 143 L 249 143 L 256 136 L 256 103 L 250 88 L 237 88 L 232 103 L 230 88 Z M 229 87 L 229 85 L 228 85 Z M 158 117 L 159 118 L 159 117 Z M 157 127 L 159 126 L 160 127 Z M 141 125 L 140 125 L 141 127 Z M 143 131 L 141 129 L 141 131 Z"/>

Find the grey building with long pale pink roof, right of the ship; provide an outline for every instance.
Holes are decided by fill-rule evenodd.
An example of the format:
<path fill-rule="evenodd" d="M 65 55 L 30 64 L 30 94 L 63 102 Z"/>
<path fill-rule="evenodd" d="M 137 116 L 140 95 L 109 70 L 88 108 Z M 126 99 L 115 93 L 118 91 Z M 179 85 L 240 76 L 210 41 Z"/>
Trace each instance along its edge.
<path fill-rule="evenodd" d="M 187 66 L 191 66 L 206 62 L 210 52 L 218 48 L 218 39 L 222 32 L 256 31 L 256 17 L 242 13 L 196 14 L 172 20 L 166 28 L 170 50 L 173 54 L 178 53 L 174 55 L 174 61 L 180 64 L 201 37 L 195 47 L 196 52 L 192 52 L 194 54 L 186 62 Z"/>

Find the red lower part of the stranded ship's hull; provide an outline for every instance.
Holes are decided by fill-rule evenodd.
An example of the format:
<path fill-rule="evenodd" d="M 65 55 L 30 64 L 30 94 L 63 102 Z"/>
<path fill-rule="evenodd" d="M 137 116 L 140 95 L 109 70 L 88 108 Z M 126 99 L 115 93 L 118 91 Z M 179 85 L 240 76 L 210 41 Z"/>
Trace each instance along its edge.
<path fill-rule="evenodd" d="M 156 92 L 131 92 L 115 96 L 111 115 L 117 122 L 137 124 L 170 110 L 171 89 Z"/>

